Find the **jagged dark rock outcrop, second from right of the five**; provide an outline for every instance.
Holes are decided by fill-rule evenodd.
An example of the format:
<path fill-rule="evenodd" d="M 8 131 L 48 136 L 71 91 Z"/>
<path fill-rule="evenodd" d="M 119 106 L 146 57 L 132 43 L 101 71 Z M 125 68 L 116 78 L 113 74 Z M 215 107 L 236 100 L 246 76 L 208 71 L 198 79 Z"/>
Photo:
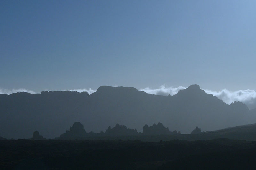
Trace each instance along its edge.
<path fill-rule="evenodd" d="M 153 126 L 148 127 L 146 124 L 143 126 L 143 135 L 170 135 L 170 134 L 180 134 L 180 131 L 177 132 L 174 130 L 173 132 L 169 131 L 169 128 L 165 128 L 164 125 L 160 122 L 156 125 L 155 123 Z"/>

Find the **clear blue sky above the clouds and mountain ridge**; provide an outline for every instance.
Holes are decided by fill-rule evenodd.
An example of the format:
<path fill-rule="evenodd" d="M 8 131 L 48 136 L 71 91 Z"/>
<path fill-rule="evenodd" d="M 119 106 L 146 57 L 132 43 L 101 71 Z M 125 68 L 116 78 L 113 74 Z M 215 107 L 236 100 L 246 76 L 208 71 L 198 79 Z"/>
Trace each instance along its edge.
<path fill-rule="evenodd" d="M 0 88 L 256 90 L 256 1 L 1 1 Z"/>

